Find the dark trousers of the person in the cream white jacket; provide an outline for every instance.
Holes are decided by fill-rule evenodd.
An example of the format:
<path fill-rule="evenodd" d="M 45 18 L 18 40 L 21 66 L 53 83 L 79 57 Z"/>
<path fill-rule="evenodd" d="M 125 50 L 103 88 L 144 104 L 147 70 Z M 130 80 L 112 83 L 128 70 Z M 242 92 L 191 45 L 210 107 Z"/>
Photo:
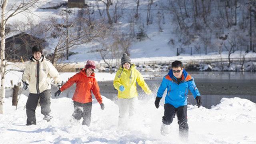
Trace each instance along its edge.
<path fill-rule="evenodd" d="M 26 103 L 27 125 L 36 124 L 36 107 L 40 98 L 41 113 L 47 115 L 51 112 L 51 91 L 45 90 L 40 94 L 29 93 Z"/>

